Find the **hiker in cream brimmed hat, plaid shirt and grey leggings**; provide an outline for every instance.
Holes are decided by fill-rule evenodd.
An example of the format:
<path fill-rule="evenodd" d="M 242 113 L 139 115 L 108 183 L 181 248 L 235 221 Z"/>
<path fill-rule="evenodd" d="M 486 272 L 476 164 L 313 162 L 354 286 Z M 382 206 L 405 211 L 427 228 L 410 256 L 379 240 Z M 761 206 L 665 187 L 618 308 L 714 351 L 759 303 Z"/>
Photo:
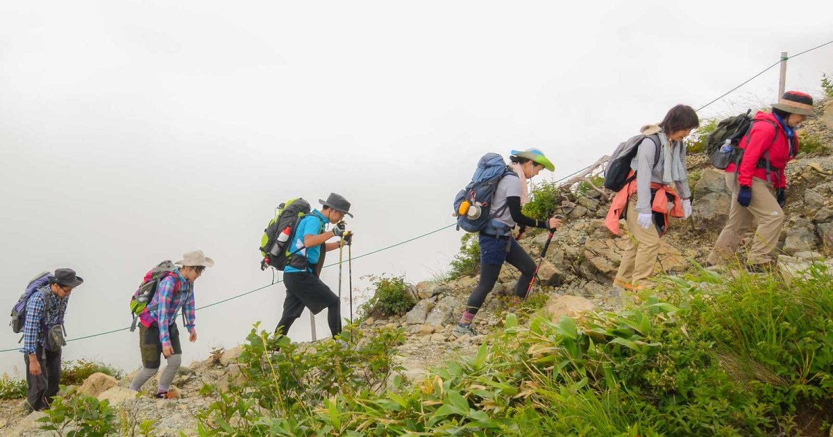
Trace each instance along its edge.
<path fill-rule="evenodd" d="M 142 353 L 142 370 L 133 378 L 130 388 L 141 390 L 147 380 L 159 371 L 162 364 L 160 355 L 167 360 L 165 370 L 159 376 L 157 398 L 170 399 L 168 391 L 174 376 L 182 365 L 182 345 L 179 342 L 177 312 L 182 308 L 183 325 L 188 330 L 188 340 L 197 341 L 197 329 L 194 326 L 194 281 L 202 276 L 206 267 L 214 266 L 214 261 L 202 251 L 187 252 L 180 266 L 159 281 L 156 294 L 147 308 L 139 316 L 139 350 Z"/>

